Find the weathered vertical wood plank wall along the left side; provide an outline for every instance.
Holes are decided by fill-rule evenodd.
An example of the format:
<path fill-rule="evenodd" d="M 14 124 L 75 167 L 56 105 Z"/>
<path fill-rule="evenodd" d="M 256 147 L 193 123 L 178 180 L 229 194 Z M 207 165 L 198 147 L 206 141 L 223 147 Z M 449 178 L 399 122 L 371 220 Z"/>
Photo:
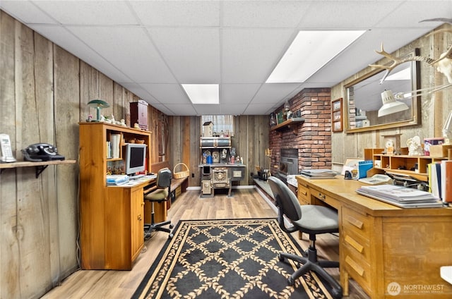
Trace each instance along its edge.
<path fill-rule="evenodd" d="M 78 159 L 78 122 L 95 115 L 91 99 L 105 100 L 102 114 L 130 125 L 135 94 L 4 11 L 0 57 L 0 133 L 19 161 L 20 149 L 37 142 Z M 167 132 L 165 114 L 149 106 L 148 118 L 155 132 Z M 167 152 L 162 135 L 152 135 L 153 163 Z M 39 178 L 33 167 L 6 169 L 0 197 L 0 298 L 39 298 L 78 269 L 78 165 L 48 166 Z"/>

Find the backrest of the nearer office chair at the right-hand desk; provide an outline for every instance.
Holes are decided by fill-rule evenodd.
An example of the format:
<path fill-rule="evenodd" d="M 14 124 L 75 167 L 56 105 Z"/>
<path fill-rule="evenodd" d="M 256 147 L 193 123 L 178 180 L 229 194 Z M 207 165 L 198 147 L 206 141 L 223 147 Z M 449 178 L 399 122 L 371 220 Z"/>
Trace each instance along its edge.
<path fill-rule="evenodd" d="M 302 219 L 302 209 L 299 207 L 298 199 L 289 187 L 275 176 L 268 178 L 268 184 L 275 197 L 276 205 L 280 209 L 280 216 L 285 214 L 292 221 Z"/>

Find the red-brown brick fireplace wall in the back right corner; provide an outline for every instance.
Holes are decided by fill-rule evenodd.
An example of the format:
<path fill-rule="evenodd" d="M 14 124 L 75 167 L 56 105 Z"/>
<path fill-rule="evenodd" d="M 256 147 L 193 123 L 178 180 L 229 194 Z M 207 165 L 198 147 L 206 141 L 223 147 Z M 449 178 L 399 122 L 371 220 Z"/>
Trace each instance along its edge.
<path fill-rule="evenodd" d="M 331 169 L 331 90 L 306 88 L 289 101 L 290 111 L 301 109 L 304 122 L 295 130 L 270 130 L 270 171 L 279 173 L 281 150 L 298 150 L 298 172 L 302 169 Z M 283 106 L 275 112 L 281 111 Z M 283 151 L 284 152 L 284 151 Z"/>

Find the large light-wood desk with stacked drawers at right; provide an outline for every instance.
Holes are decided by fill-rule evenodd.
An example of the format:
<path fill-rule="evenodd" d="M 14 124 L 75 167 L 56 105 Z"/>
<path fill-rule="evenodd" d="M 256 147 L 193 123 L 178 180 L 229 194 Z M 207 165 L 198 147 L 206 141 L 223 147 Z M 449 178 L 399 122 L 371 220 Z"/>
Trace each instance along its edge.
<path fill-rule="evenodd" d="M 338 209 L 344 295 L 352 278 L 371 298 L 451 298 L 440 267 L 452 264 L 452 208 L 401 209 L 355 193 L 364 184 L 343 176 L 297 181 L 302 204 Z"/>

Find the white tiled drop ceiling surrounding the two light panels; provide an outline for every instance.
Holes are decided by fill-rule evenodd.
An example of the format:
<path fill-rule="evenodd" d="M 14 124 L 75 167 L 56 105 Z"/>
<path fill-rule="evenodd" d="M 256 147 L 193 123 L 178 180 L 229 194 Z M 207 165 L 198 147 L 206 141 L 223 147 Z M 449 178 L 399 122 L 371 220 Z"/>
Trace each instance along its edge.
<path fill-rule="evenodd" d="M 261 115 L 332 87 L 451 18 L 452 1 L 0 1 L 1 10 L 165 114 Z M 304 83 L 265 83 L 299 30 L 367 30 Z M 181 84 L 220 84 L 191 104 Z"/>

